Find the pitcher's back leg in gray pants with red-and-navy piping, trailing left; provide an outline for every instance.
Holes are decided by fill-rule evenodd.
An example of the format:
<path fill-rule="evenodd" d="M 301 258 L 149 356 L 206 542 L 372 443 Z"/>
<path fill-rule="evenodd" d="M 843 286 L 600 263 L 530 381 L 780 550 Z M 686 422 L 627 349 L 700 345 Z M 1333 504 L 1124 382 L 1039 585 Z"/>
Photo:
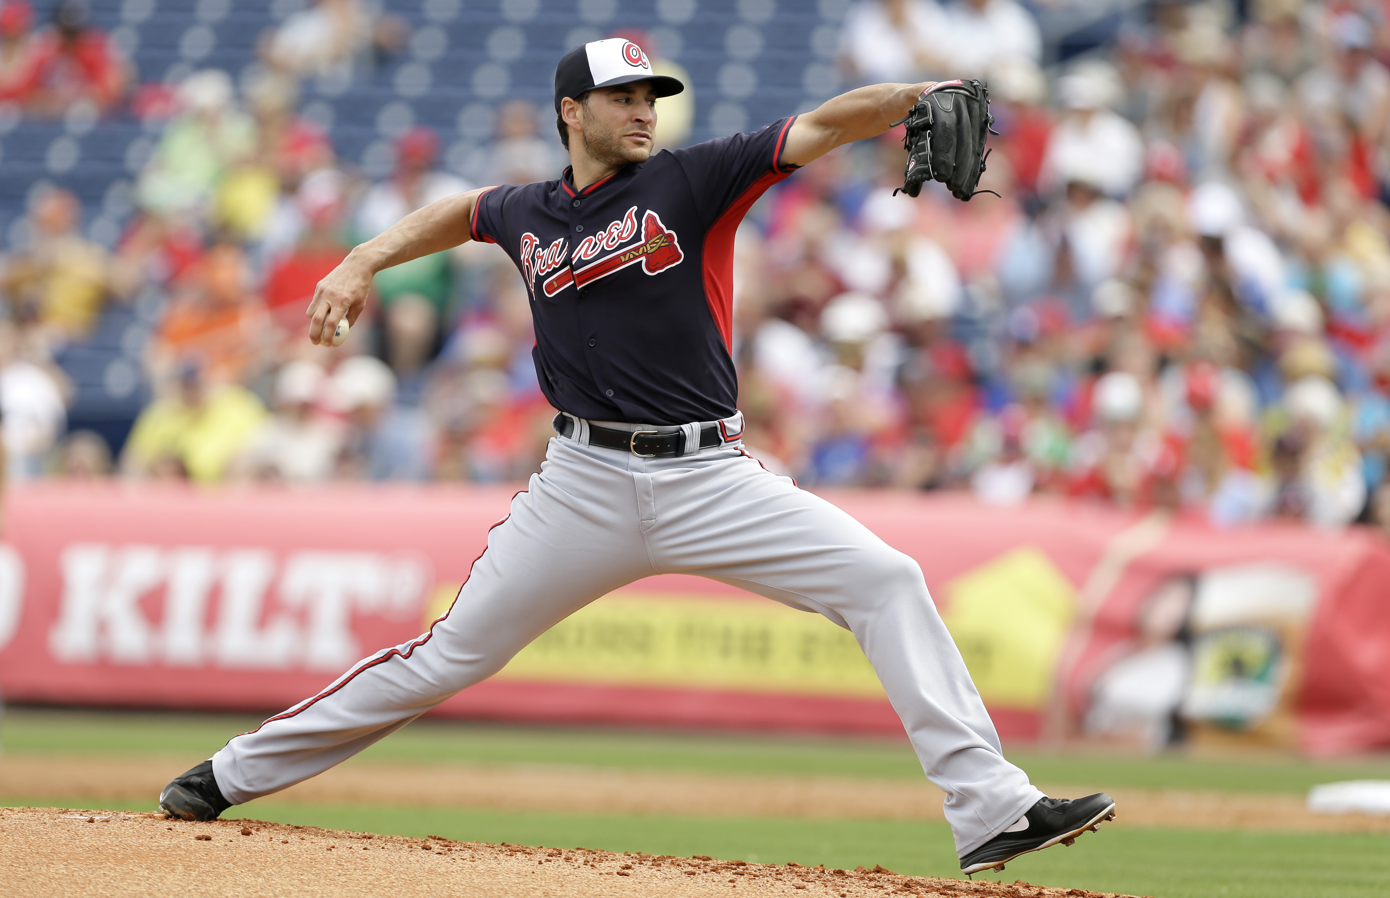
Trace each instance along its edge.
<path fill-rule="evenodd" d="M 651 574 L 631 475 L 577 452 L 550 441 L 542 474 L 512 500 L 430 632 L 364 659 L 217 752 L 213 773 L 227 801 L 279 791 L 350 758 L 492 676 L 588 602 Z"/>

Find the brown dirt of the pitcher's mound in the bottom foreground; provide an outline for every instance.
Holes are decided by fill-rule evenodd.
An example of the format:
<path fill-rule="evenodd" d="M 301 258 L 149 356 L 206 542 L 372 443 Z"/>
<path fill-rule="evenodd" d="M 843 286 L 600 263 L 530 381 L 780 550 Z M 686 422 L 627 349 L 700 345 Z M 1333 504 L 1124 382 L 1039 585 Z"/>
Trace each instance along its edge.
<path fill-rule="evenodd" d="M 1104 898 L 1079 888 L 937 880 L 876 870 L 527 848 L 370 835 L 260 820 L 185 823 L 154 813 L 0 808 L 6 895 L 183 894 L 316 898 Z"/>

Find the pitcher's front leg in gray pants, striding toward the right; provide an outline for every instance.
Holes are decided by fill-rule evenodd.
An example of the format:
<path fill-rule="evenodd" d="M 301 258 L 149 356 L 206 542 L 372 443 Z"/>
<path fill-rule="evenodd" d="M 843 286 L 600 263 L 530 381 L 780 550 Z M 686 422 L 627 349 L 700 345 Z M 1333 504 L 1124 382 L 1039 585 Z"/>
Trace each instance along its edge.
<path fill-rule="evenodd" d="M 947 792 L 958 854 L 984 844 L 1042 798 L 1004 759 L 916 562 L 752 459 L 701 474 L 653 474 L 656 505 L 666 510 L 648 535 L 657 566 L 731 582 L 849 628 L 923 770 Z"/>

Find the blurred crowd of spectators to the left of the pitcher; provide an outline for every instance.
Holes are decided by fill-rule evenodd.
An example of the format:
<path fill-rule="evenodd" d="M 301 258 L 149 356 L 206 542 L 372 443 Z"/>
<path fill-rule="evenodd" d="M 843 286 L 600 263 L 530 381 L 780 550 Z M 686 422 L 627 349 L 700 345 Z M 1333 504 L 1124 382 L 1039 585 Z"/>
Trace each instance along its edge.
<path fill-rule="evenodd" d="M 90 54 L 124 72 L 86 22 L 83 4 L 64 3 L 51 26 L 31 31 L 22 0 L 0 6 L 18 71 L 33 68 L 35 46 L 58 43 L 100 47 Z M 63 43 L 70 32 L 81 39 Z M 24 114 L 128 101 L 158 135 L 114 247 L 82 234 L 70 192 L 40 183 L 26 239 L 4 253 L 0 411 L 11 477 L 503 481 L 539 467 L 553 410 L 531 366 L 525 289 L 499 250 L 468 245 L 391 268 L 345 346 L 304 336 L 314 285 L 353 245 L 473 186 L 441 168 L 428 128 L 400 133 L 392 174 L 374 182 L 296 113 L 302 78 L 389 53 L 400 33 L 354 0 L 321 0 L 263 36 L 259 71 L 240 90 L 227 72 L 203 70 L 122 95 L 115 75 L 86 78 L 75 50 L 60 67 L 61 90 L 49 90 L 56 78 L 7 81 L 3 96 Z M 531 103 L 499 107 L 489 181 L 559 172 L 563 152 L 538 121 Z M 53 360 L 120 303 L 154 309 L 142 350 L 153 396 L 111 446 L 92 431 L 65 432 L 72 385 Z"/>

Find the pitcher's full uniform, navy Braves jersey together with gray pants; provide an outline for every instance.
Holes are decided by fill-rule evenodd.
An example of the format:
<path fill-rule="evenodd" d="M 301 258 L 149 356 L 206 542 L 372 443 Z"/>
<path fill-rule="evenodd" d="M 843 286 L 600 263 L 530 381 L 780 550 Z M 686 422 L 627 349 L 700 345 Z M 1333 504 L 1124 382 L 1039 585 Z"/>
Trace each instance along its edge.
<path fill-rule="evenodd" d="M 567 416 L 563 435 L 428 632 L 214 755 L 229 802 L 352 756 L 492 676 L 580 607 L 653 574 L 710 577 L 851 630 L 947 792 L 958 852 L 1042 797 L 1004 759 L 916 562 L 739 443 L 734 231 L 791 172 L 778 164 L 791 122 L 662 152 L 584 190 L 562 178 L 481 195 L 471 236 L 502 246 L 525 278 L 537 373 Z M 653 457 L 594 445 L 595 424 L 687 438 L 680 456 Z M 702 445 L 712 425 L 719 435 Z"/>

